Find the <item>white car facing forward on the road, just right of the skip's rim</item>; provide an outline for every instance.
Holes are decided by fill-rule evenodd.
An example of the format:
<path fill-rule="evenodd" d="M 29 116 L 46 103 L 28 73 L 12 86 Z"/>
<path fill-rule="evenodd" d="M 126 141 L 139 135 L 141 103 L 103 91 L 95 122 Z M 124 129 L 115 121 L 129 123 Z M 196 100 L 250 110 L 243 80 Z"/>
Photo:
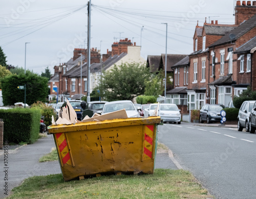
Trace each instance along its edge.
<path fill-rule="evenodd" d="M 158 116 L 161 117 L 163 122 L 178 122 L 180 125 L 181 114 L 176 104 L 160 104 Z"/>

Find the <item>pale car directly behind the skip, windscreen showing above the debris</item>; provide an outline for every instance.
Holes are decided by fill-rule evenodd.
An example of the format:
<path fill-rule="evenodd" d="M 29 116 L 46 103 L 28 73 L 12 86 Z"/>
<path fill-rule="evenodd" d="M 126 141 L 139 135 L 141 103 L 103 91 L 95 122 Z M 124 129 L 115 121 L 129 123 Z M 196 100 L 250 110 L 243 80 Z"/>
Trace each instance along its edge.
<path fill-rule="evenodd" d="M 121 100 L 114 102 L 107 102 L 104 104 L 102 115 L 118 110 L 125 109 L 128 117 L 140 117 L 139 112 L 135 108 L 134 104 L 130 100 Z"/>

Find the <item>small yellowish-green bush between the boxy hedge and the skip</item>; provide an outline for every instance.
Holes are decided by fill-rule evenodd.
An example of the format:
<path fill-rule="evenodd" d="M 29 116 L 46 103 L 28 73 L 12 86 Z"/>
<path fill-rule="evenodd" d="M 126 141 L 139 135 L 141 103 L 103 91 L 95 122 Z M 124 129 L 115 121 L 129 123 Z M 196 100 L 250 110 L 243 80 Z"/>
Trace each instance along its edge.
<path fill-rule="evenodd" d="M 52 115 L 56 120 L 56 114 L 52 106 L 47 106 L 45 103 L 42 102 L 36 102 L 31 105 L 31 108 L 38 109 L 41 111 L 41 116 L 44 116 L 44 123 L 46 127 L 52 124 Z"/>

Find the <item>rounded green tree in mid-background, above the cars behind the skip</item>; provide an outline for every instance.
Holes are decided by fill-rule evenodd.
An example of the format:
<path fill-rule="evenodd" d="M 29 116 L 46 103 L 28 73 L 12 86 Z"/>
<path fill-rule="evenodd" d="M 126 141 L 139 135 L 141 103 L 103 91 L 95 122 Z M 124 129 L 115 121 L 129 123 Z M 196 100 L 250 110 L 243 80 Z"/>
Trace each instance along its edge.
<path fill-rule="evenodd" d="M 149 68 L 139 63 L 122 63 L 103 71 L 99 85 L 101 96 L 107 101 L 132 99 L 144 94 L 145 80 L 151 78 Z M 103 92 L 102 92 L 103 91 Z"/>

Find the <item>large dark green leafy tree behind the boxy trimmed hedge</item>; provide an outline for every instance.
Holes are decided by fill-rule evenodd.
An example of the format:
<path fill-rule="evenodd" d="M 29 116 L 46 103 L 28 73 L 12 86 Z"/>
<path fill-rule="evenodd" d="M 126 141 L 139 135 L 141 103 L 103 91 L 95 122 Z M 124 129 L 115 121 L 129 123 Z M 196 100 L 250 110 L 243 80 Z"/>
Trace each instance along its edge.
<path fill-rule="evenodd" d="M 38 74 L 24 73 L 6 76 L 2 79 L 3 103 L 5 106 L 16 102 L 24 102 L 25 90 L 19 90 L 17 86 L 26 84 L 26 103 L 31 105 L 37 101 L 46 102 L 48 96 L 48 80 Z"/>

